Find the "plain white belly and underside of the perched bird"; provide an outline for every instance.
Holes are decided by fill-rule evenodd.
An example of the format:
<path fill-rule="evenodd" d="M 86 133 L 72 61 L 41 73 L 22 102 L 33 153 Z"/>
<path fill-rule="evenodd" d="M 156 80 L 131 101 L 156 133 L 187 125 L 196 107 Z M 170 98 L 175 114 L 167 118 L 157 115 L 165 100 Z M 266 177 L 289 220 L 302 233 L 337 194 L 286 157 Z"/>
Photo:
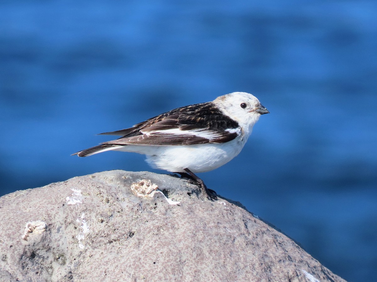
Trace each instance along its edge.
<path fill-rule="evenodd" d="M 246 140 L 236 138 L 221 144 L 198 144 L 182 146 L 124 146 L 117 150 L 145 154 L 146 161 L 154 168 L 172 172 L 193 173 L 214 170 L 241 152 Z"/>

